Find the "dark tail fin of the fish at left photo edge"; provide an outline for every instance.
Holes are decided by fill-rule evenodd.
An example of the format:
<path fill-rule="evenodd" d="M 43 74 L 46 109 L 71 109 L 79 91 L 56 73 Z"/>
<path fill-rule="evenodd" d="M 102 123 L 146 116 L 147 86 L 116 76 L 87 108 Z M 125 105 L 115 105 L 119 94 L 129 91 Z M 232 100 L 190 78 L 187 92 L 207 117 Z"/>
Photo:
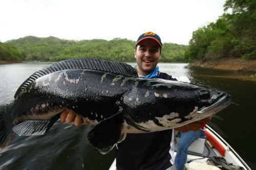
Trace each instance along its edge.
<path fill-rule="evenodd" d="M 0 106 L 0 150 L 3 150 L 14 137 L 11 126 L 8 126 L 5 119 L 6 108 L 8 105 Z"/>

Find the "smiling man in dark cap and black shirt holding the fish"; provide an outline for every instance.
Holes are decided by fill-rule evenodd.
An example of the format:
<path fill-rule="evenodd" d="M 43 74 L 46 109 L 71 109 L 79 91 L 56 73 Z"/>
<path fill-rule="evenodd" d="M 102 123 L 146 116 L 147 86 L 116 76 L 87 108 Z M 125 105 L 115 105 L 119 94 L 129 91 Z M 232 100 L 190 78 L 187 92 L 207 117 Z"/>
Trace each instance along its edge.
<path fill-rule="evenodd" d="M 139 77 L 160 78 L 176 80 L 166 73 L 160 72 L 157 66 L 161 56 L 162 42 L 160 37 L 152 32 L 142 34 L 137 42 L 134 56 L 136 58 L 136 70 Z M 176 128 L 182 132 L 197 131 L 204 123 L 208 123 L 211 117 L 198 122 Z M 61 122 L 74 122 L 76 126 L 83 124 L 81 117 L 74 112 L 62 112 Z M 88 124 L 88 122 L 84 122 Z M 117 144 L 116 163 L 117 169 L 175 169 L 172 159 L 174 152 L 173 129 L 144 133 L 127 134 L 126 138 Z"/>

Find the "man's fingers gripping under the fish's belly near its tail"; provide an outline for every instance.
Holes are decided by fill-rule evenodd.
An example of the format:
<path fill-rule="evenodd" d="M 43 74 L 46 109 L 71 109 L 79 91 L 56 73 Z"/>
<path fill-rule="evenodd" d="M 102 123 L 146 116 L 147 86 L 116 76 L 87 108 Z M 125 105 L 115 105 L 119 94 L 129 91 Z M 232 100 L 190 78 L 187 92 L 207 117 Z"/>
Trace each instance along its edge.
<path fill-rule="evenodd" d="M 83 119 L 81 116 L 76 114 L 74 111 L 66 109 L 60 114 L 60 122 L 73 123 L 75 126 L 80 126 L 82 124 L 89 125 L 87 120 Z"/>

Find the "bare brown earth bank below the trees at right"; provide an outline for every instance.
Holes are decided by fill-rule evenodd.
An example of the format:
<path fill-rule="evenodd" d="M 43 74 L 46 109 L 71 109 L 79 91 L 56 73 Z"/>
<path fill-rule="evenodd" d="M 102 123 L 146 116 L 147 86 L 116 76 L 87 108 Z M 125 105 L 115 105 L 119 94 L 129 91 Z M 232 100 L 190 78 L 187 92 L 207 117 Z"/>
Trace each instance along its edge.
<path fill-rule="evenodd" d="M 242 59 L 242 58 L 220 58 L 216 60 L 198 60 L 190 63 L 191 66 L 213 68 L 213 69 L 225 69 L 236 70 L 242 72 L 249 72 L 247 76 L 234 76 L 228 77 L 233 79 L 244 79 L 256 81 L 256 60 Z"/>

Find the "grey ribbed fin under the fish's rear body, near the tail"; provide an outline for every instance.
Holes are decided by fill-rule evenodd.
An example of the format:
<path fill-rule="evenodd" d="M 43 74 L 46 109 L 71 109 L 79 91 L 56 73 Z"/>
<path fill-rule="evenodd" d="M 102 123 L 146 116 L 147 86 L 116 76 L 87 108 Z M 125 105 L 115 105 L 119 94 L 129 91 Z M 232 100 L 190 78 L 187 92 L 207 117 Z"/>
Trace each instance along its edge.
<path fill-rule="evenodd" d="M 60 114 L 53 116 L 48 120 L 24 120 L 13 127 L 13 132 L 18 135 L 44 135 L 53 124 L 59 119 Z"/>

